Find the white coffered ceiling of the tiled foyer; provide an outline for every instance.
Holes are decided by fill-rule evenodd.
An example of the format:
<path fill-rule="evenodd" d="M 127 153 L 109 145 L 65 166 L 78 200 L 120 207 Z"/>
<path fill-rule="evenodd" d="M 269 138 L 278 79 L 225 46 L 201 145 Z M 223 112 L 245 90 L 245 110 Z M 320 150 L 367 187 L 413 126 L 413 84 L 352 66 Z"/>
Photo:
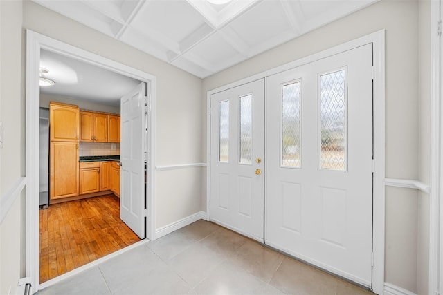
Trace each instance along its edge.
<path fill-rule="evenodd" d="M 33 0 L 208 77 L 378 0 Z"/>

